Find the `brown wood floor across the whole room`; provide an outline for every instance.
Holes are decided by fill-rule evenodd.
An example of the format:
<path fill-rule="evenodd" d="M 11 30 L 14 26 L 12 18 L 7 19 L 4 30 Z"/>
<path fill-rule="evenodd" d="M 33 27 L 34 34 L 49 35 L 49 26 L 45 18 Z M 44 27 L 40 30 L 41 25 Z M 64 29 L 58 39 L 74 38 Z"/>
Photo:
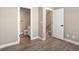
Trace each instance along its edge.
<path fill-rule="evenodd" d="M 79 46 L 55 38 L 31 41 L 24 37 L 21 40 L 21 44 L 3 48 L 1 51 L 79 51 Z"/>

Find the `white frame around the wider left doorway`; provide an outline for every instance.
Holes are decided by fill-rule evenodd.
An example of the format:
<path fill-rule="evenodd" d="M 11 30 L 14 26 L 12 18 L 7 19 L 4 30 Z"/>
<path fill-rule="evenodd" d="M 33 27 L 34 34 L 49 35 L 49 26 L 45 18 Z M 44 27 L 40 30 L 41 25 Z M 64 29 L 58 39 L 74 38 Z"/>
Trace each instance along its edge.
<path fill-rule="evenodd" d="M 17 38 L 18 38 L 18 43 L 20 43 L 20 8 L 21 7 L 17 7 L 17 27 L 18 27 L 18 33 L 17 33 Z M 26 8 L 26 9 L 30 9 L 30 20 L 32 20 L 32 8 L 31 7 L 22 7 L 22 8 Z M 32 21 L 30 21 L 30 28 L 32 28 Z M 31 32 L 31 39 L 32 39 L 32 30 L 30 29 Z"/>

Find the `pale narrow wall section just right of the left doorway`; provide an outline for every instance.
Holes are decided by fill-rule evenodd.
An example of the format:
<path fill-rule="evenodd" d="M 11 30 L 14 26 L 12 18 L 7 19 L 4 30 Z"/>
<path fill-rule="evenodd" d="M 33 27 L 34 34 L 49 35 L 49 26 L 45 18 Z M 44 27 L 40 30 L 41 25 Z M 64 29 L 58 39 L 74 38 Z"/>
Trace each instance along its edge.
<path fill-rule="evenodd" d="M 32 38 L 38 36 L 38 7 L 32 7 L 31 14 L 31 30 L 32 30 Z"/>

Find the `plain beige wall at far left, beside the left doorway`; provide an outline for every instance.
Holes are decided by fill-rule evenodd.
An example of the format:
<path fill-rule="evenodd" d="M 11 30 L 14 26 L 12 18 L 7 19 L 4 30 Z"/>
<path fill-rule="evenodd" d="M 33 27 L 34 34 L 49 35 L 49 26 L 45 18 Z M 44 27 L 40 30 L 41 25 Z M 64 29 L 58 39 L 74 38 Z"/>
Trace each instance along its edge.
<path fill-rule="evenodd" d="M 16 7 L 0 7 L 0 45 L 18 40 L 17 16 Z"/>

